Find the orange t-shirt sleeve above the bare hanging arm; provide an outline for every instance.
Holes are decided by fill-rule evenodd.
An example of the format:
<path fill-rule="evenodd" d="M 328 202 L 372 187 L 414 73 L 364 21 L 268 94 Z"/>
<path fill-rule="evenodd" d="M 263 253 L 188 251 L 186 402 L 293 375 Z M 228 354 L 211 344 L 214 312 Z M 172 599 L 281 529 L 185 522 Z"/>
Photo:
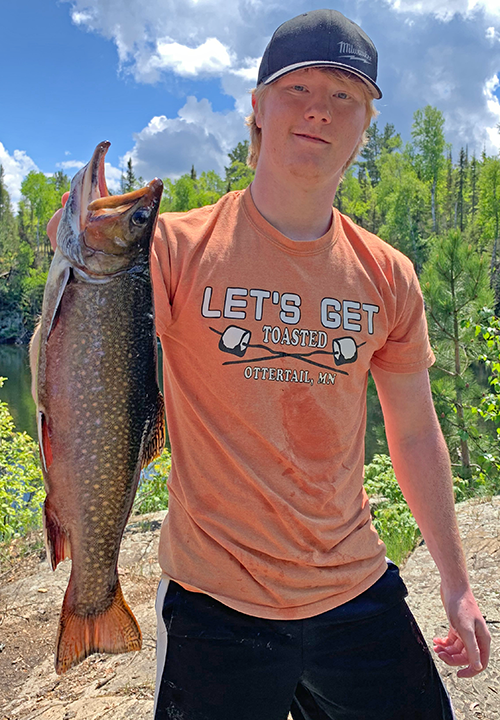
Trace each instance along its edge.
<path fill-rule="evenodd" d="M 412 263 L 405 258 L 395 271 L 395 317 L 385 344 L 371 362 L 382 370 L 412 373 L 435 361 L 429 342 L 424 299 Z"/>

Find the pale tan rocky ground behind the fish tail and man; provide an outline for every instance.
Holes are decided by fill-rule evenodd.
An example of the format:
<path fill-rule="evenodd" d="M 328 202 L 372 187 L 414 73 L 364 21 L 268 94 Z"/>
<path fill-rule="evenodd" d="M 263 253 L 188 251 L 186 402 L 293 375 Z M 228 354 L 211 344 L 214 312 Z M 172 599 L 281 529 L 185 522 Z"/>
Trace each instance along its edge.
<path fill-rule="evenodd" d="M 457 511 L 471 581 L 493 637 L 493 653 L 488 669 L 473 680 L 458 680 L 455 671 L 438 661 L 439 669 L 457 720 L 500 720 L 500 497 L 488 503 L 464 503 Z M 153 606 L 163 515 L 133 518 L 120 555 L 124 595 L 143 632 L 140 653 L 93 655 L 59 677 L 52 653 L 69 561 L 52 572 L 39 556 L 16 558 L 0 575 L 0 720 L 152 718 Z M 411 608 L 432 643 L 436 633 L 446 632 L 446 618 L 439 600 L 439 576 L 425 545 L 410 556 L 402 575 Z"/>

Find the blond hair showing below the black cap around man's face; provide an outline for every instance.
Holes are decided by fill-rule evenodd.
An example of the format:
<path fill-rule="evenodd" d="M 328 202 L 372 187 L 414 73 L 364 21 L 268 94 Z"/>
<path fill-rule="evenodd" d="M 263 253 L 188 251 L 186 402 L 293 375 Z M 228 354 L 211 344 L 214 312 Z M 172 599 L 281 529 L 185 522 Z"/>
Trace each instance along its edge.
<path fill-rule="evenodd" d="M 327 73 L 328 75 L 331 75 L 335 80 L 342 80 L 346 83 L 355 83 L 362 91 L 363 93 L 363 99 L 365 101 L 366 106 L 366 119 L 365 119 L 365 127 L 363 128 L 363 133 L 361 135 L 361 138 L 359 140 L 359 143 L 355 147 L 352 155 L 342 168 L 342 172 L 344 173 L 347 168 L 352 165 L 352 163 L 356 160 L 361 148 L 366 145 L 366 142 L 368 140 L 368 137 L 366 135 L 366 131 L 371 123 L 371 121 L 377 117 L 378 110 L 375 108 L 373 104 L 373 100 L 375 98 L 375 91 L 372 92 L 371 88 L 367 83 L 365 83 L 363 80 L 361 80 L 360 77 L 357 75 L 354 75 L 353 73 L 346 72 L 345 70 L 338 70 L 337 68 L 329 68 L 329 67 L 321 67 L 318 68 L 322 72 Z M 264 85 L 263 83 L 261 85 L 258 85 L 256 88 L 252 90 L 252 95 L 255 97 L 256 100 L 259 102 L 262 102 L 264 96 L 266 95 L 267 91 L 271 85 Z M 250 145 L 248 148 L 248 156 L 247 156 L 247 165 L 249 165 L 251 168 L 255 170 L 257 167 L 257 161 L 259 159 L 260 154 L 260 146 L 262 142 L 262 130 L 257 127 L 257 123 L 255 121 L 255 113 L 252 110 L 250 115 L 245 120 L 246 125 L 250 132 Z"/>

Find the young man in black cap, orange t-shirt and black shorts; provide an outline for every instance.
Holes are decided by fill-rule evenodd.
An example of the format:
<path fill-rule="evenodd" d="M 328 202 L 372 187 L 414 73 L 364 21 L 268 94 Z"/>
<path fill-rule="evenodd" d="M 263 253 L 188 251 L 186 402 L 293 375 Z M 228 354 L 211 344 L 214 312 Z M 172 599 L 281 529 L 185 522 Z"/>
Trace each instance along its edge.
<path fill-rule="evenodd" d="M 340 71 L 340 72 L 339 72 Z M 370 521 L 366 385 L 442 578 L 439 657 L 489 634 L 458 536 L 411 262 L 332 210 L 373 115 L 377 53 L 333 10 L 284 23 L 253 95 L 255 180 L 161 216 L 153 253 L 172 443 L 156 720 L 448 720 Z"/>

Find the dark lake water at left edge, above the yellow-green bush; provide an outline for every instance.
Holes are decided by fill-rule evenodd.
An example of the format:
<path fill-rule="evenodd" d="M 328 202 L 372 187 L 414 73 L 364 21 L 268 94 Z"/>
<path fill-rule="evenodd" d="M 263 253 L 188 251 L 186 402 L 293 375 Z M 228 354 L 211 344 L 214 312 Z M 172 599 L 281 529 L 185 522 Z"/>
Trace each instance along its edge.
<path fill-rule="evenodd" d="M 36 440 L 36 410 L 31 397 L 27 345 L 0 345 L 0 376 L 7 378 L 0 388 L 0 400 L 9 406 L 16 430 L 24 430 Z"/>

